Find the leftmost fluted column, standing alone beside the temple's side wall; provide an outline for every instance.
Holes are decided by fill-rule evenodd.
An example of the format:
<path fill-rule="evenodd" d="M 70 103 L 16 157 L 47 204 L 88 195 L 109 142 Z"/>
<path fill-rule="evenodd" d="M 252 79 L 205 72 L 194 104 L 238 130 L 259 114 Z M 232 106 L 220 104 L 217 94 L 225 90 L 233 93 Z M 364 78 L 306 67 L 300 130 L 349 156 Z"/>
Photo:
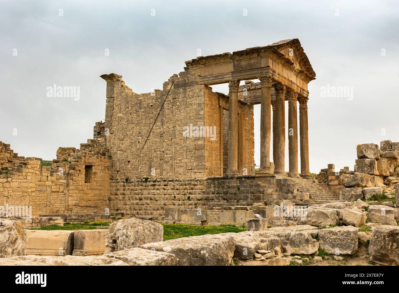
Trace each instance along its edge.
<path fill-rule="evenodd" d="M 229 81 L 229 155 L 226 175 L 239 175 L 238 171 L 238 87 L 239 80 Z"/>

